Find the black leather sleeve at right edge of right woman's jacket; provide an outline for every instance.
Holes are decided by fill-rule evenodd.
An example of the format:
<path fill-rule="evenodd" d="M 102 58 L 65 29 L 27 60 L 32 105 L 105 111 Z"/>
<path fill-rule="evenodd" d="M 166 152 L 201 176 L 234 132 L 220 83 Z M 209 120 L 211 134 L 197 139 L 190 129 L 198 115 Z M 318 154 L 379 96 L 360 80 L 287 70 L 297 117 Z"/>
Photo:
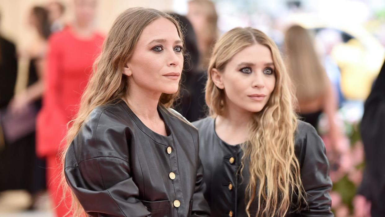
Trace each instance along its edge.
<path fill-rule="evenodd" d="M 331 212 L 329 192 L 332 182 L 329 177 L 329 162 L 326 149 L 316 130 L 308 123 L 299 123 L 298 138 L 301 144 L 301 179 L 307 194 L 307 209 L 301 216 L 334 216 Z"/>

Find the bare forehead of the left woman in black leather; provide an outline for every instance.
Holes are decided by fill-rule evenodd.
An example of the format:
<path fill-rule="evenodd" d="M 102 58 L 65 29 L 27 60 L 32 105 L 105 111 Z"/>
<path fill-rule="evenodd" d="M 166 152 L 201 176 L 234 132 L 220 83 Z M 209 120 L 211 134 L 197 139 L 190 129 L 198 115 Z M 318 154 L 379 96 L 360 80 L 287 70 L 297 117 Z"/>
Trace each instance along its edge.
<path fill-rule="evenodd" d="M 143 29 L 138 43 L 147 44 L 155 39 L 166 39 L 172 42 L 181 40 L 174 23 L 163 17 L 152 21 Z"/>

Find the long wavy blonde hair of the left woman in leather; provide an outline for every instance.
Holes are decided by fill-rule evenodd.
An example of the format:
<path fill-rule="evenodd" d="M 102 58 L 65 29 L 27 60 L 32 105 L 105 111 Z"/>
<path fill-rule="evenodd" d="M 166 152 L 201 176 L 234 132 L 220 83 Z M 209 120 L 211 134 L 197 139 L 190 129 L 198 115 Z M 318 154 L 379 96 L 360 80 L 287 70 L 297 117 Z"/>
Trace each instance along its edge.
<path fill-rule="evenodd" d="M 129 8 L 121 13 L 115 20 L 104 41 L 102 52 L 94 63 L 92 77 L 80 100 L 79 112 L 76 118 L 70 122 L 70 128 L 66 138 L 67 148 L 65 148 L 62 154 L 63 165 L 65 153 L 70 143 L 79 132 L 91 111 L 98 106 L 112 104 L 115 99 L 126 96 L 129 83 L 127 76 L 122 74 L 123 68 L 132 56 L 143 29 L 152 21 L 159 18 L 170 20 L 175 25 L 179 37 L 183 40 L 178 22 L 167 13 L 159 10 L 151 8 Z M 163 93 L 159 99 L 159 105 L 162 108 L 169 108 L 177 95 L 178 93 Z M 64 192 L 69 192 L 64 171 L 61 183 Z M 70 210 L 73 212 L 73 215 L 85 215 L 79 201 L 72 192 L 71 198 L 72 205 Z"/>

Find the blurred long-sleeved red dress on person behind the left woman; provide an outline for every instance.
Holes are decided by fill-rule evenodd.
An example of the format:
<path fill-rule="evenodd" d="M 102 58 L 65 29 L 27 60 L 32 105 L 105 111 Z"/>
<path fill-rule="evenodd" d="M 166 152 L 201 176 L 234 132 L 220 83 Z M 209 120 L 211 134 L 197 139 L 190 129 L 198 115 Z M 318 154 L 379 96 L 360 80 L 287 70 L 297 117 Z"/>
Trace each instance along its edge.
<path fill-rule="evenodd" d="M 79 39 L 71 27 L 49 39 L 43 107 L 37 118 L 36 151 L 37 155 L 47 159 L 47 183 L 54 207 L 59 205 L 62 197 L 58 154 L 66 143 L 67 123 L 77 114 L 80 97 L 103 40 L 104 36 L 97 33 L 90 39 Z M 68 209 L 61 203 L 55 211 L 61 217 Z"/>

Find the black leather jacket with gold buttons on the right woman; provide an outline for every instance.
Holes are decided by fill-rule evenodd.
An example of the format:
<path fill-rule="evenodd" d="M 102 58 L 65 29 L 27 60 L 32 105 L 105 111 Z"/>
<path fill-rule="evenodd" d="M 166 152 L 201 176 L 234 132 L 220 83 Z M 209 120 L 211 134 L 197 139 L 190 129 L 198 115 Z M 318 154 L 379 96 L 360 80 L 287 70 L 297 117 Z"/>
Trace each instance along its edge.
<path fill-rule="evenodd" d="M 204 167 L 204 194 L 213 217 L 246 217 L 245 189 L 249 180 L 248 165 L 243 179 L 237 173 L 243 151 L 240 145 L 228 145 L 215 133 L 211 117 L 193 123 L 199 130 L 199 155 Z M 315 129 L 298 121 L 295 152 L 301 167 L 301 180 L 308 194 L 308 209 L 287 216 L 333 216 L 331 212 L 331 180 L 325 146 Z M 295 200 L 295 198 L 293 198 Z M 251 216 L 256 215 L 257 201 L 251 205 Z"/>

